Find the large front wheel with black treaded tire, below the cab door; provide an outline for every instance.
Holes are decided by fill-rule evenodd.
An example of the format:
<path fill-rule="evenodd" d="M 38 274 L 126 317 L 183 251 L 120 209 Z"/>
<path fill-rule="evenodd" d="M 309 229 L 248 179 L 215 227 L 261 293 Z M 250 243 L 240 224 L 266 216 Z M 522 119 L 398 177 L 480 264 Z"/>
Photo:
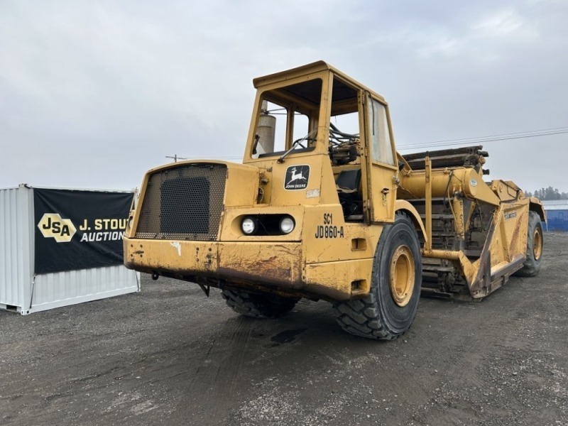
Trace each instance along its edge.
<path fill-rule="evenodd" d="M 416 229 L 406 214 L 398 212 L 378 241 L 370 293 L 363 299 L 334 304 L 339 326 L 376 340 L 396 339 L 406 332 L 420 300 L 421 259 Z"/>

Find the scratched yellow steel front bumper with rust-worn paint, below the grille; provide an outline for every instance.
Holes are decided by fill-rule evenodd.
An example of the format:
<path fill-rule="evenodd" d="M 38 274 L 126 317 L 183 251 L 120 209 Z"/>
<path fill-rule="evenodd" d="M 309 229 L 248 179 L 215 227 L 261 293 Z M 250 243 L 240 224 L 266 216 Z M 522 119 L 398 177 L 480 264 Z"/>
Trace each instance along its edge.
<path fill-rule="evenodd" d="M 304 254 L 300 242 L 124 238 L 124 264 L 136 271 L 329 301 L 368 294 L 372 258 L 306 263 Z"/>

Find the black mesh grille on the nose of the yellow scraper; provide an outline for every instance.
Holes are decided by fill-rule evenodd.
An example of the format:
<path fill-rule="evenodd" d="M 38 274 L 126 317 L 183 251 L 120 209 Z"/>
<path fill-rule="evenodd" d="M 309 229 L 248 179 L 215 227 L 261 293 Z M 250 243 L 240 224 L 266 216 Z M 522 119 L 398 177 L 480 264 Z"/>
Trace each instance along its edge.
<path fill-rule="evenodd" d="M 154 173 L 148 180 L 136 238 L 217 239 L 226 166 L 189 164 Z"/>

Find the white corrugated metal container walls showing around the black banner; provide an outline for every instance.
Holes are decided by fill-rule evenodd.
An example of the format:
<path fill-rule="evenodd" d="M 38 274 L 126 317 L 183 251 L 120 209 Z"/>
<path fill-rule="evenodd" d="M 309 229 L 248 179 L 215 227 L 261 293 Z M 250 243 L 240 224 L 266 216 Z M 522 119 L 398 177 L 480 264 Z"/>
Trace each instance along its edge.
<path fill-rule="evenodd" d="M 26 315 L 140 290 L 122 265 L 36 275 L 34 232 L 33 188 L 0 189 L 0 309 Z"/>

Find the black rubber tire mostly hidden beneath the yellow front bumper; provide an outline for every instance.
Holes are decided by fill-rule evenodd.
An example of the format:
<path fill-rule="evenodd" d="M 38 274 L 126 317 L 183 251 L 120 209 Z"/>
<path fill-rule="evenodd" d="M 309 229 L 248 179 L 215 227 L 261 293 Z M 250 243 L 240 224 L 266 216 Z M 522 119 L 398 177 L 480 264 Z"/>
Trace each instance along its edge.
<path fill-rule="evenodd" d="M 295 307 L 298 298 L 270 293 L 248 293 L 243 290 L 223 289 L 225 302 L 236 313 L 253 318 L 278 318 Z"/>

